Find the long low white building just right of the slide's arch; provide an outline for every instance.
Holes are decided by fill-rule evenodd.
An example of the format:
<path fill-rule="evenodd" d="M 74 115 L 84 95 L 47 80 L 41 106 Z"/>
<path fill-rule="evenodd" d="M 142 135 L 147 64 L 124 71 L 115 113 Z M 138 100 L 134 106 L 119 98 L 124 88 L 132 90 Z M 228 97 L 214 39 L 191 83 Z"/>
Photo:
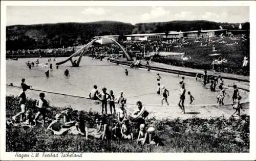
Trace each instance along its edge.
<path fill-rule="evenodd" d="M 125 35 L 126 41 L 160 41 L 164 33 Z"/>

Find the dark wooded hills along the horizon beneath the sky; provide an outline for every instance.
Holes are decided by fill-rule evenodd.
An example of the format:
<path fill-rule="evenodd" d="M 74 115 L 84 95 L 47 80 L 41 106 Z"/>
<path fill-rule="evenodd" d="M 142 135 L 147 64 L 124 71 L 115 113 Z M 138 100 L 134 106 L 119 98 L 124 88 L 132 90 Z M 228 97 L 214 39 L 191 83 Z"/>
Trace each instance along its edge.
<path fill-rule="evenodd" d="M 232 23 L 236 28 L 239 24 Z M 93 36 L 123 35 L 135 33 L 164 33 L 166 31 L 192 31 L 220 29 L 212 21 L 169 21 L 155 23 L 123 23 L 117 21 L 97 21 L 88 23 L 55 23 L 33 25 L 11 25 L 6 27 L 6 49 L 46 49 L 62 46 L 86 44 Z M 242 29 L 249 30 L 249 23 L 242 23 Z"/>

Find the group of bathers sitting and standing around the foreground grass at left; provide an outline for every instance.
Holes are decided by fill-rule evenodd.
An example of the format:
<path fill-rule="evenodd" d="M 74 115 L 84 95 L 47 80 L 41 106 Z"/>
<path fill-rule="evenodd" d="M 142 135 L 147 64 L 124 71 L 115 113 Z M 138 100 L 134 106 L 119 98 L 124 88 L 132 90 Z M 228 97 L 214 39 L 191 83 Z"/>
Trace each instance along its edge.
<path fill-rule="evenodd" d="M 19 104 L 21 111 L 12 117 L 11 121 L 7 121 L 7 127 L 20 127 L 28 126 L 34 127 L 41 123 L 42 127 L 45 127 L 47 111 L 50 108 L 49 103 L 45 99 L 45 93 L 39 94 L 39 99 L 36 101 L 37 113 L 33 118 L 33 113 L 30 110 L 26 111 L 26 91 L 31 89 L 32 86 L 25 84 L 25 79 L 22 79 L 21 88 L 22 91 L 19 94 Z M 120 92 L 120 96 L 116 99 L 113 95 L 113 91 L 110 94 L 106 93 L 106 89 L 102 89 L 102 93 L 97 91 L 97 86 L 89 94 L 91 99 L 100 100 L 102 103 L 102 117 L 95 119 L 95 127 L 88 127 L 87 121 L 83 111 L 80 111 L 76 117 L 72 115 L 73 109 L 66 108 L 62 112 L 55 115 L 55 119 L 48 125 L 47 129 L 54 135 L 81 135 L 86 137 L 93 137 L 100 140 L 110 141 L 112 139 L 118 140 L 136 140 L 140 145 L 154 144 L 163 145 L 161 139 L 156 135 L 157 129 L 153 126 L 146 124 L 146 117 L 148 112 L 145 110 L 145 106 L 141 101 L 136 103 L 137 109 L 131 115 L 136 122 L 136 129 L 132 129 L 129 123 L 129 115 L 125 109 L 126 99 L 123 97 L 123 92 Z M 108 119 L 110 115 L 107 115 L 107 100 L 110 98 L 111 116 L 112 108 L 114 110 L 114 122 L 109 123 Z M 118 104 L 118 110 L 115 109 L 115 101 Z M 30 107 L 31 108 L 31 107 Z M 29 109 L 29 107 L 27 107 Z M 104 113 L 105 112 L 105 113 Z M 42 116 L 42 121 L 38 121 L 39 116 Z M 20 118 L 19 121 L 17 118 Z M 136 132 L 134 132 L 136 130 Z M 135 139 L 134 137 L 137 137 Z"/>

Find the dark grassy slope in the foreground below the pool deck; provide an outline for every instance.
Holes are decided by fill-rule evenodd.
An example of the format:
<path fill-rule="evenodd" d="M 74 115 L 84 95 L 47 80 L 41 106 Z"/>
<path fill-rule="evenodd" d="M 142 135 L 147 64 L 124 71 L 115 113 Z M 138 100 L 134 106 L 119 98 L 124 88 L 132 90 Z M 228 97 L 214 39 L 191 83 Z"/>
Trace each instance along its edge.
<path fill-rule="evenodd" d="M 35 100 L 29 99 L 27 107 L 33 113 Z M 49 125 L 57 113 L 63 108 L 51 107 L 47 117 Z M 6 96 L 6 120 L 19 112 L 18 98 Z M 77 116 L 78 111 L 73 115 Z M 84 112 L 88 126 L 92 127 L 98 113 Z M 114 116 L 108 118 L 111 125 Z M 133 132 L 135 123 L 130 118 Z M 245 119 L 163 119 L 146 120 L 148 125 L 158 129 L 164 146 L 140 147 L 134 141 L 111 141 L 110 144 L 81 136 L 53 136 L 46 128 L 12 127 L 6 129 L 6 151 L 37 151 L 37 152 L 249 152 L 249 118 Z"/>

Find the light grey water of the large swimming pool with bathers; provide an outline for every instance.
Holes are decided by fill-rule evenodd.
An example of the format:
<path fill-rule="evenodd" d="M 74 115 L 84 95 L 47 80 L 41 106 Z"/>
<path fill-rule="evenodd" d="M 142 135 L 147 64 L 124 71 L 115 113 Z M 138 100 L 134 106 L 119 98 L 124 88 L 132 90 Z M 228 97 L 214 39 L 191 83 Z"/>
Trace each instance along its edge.
<path fill-rule="evenodd" d="M 65 59 L 67 58 L 56 58 L 56 62 Z M 113 90 L 115 97 L 118 97 L 119 92 L 123 91 L 124 97 L 127 98 L 127 103 L 142 101 L 146 104 L 161 104 L 162 95 L 157 94 L 156 80 L 157 73 L 160 73 L 162 77 L 161 85 L 164 85 L 169 90 L 169 104 L 177 104 L 179 101 L 179 82 L 182 75 L 178 76 L 177 74 L 156 71 L 148 72 L 145 69 L 131 69 L 130 67 L 111 64 L 107 61 L 92 60 L 89 57 L 82 58 L 80 67 L 72 67 L 71 63 L 67 62 L 56 69 L 56 62 L 48 62 L 48 58 L 41 58 L 39 59 L 40 64 L 53 64 L 53 71 L 50 71 L 50 76 L 47 78 L 44 72 L 49 67 L 40 65 L 29 69 L 26 65 L 26 62 L 35 62 L 36 60 L 37 58 L 24 58 L 18 59 L 18 61 L 6 60 L 6 84 L 13 83 L 14 86 L 20 86 L 21 79 L 25 78 L 25 83 L 33 85 L 33 89 L 82 97 L 89 97 L 93 86 L 97 85 L 100 92 L 103 87 L 107 89 L 108 93 Z M 70 77 L 63 76 L 66 68 L 69 69 Z M 124 73 L 125 69 L 129 71 L 127 76 Z M 187 94 L 188 91 L 195 98 L 194 104 L 217 103 L 216 96 L 218 92 L 211 92 L 209 84 L 203 87 L 201 82 L 187 76 L 185 76 L 185 83 L 185 104 L 189 104 L 190 101 Z M 226 101 L 224 100 L 224 102 L 231 103 L 232 89 L 226 89 L 226 93 L 228 95 L 225 97 Z M 241 95 L 243 98 L 248 97 L 243 92 L 241 92 Z"/>

